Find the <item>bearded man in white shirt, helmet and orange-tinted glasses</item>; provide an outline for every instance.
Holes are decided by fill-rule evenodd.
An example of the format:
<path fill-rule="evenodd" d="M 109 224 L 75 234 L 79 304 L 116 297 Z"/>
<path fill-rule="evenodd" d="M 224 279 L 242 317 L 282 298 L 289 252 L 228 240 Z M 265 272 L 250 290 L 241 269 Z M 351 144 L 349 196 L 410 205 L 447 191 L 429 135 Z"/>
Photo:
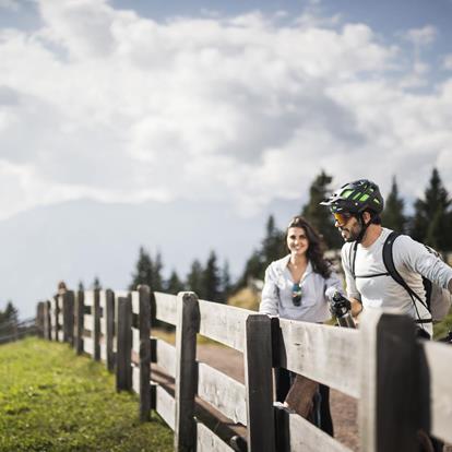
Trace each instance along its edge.
<path fill-rule="evenodd" d="M 423 276 L 452 293 L 452 269 L 424 245 L 402 235 L 393 243 L 394 265 L 415 296 L 393 279 L 383 263 L 383 243 L 391 234 L 381 226 L 384 201 L 370 180 L 346 183 L 321 204 L 330 206 L 345 240 L 341 258 L 353 316 L 362 309 L 399 308 L 415 319 L 420 336 L 431 337 Z"/>

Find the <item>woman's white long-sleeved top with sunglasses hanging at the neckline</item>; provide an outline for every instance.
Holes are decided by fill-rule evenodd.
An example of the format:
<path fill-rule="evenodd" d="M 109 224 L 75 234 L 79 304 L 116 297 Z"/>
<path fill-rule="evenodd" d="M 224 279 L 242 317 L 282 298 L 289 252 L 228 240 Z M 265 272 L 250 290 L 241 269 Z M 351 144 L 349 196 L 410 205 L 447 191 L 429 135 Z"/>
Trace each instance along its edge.
<path fill-rule="evenodd" d="M 301 279 L 294 281 L 287 267 L 289 260 L 290 254 L 267 266 L 259 312 L 305 322 L 324 322 L 331 319 L 325 292 L 329 287 L 344 292 L 336 273 L 331 272 L 330 277 L 324 278 L 313 272 L 311 262 L 308 262 Z M 301 287 L 300 306 L 294 306 L 292 300 L 294 283 L 299 283 Z"/>

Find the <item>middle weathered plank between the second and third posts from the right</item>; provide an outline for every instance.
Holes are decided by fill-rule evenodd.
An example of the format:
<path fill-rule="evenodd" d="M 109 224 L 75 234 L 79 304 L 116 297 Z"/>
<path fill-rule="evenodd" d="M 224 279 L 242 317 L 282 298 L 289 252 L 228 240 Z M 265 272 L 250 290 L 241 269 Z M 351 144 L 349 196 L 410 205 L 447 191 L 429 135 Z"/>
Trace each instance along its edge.
<path fill-rule="evenodd" d="M 204 362 L 198 364 L 198 395 L 234 423 L 247 425 L 245 385 Z"/>

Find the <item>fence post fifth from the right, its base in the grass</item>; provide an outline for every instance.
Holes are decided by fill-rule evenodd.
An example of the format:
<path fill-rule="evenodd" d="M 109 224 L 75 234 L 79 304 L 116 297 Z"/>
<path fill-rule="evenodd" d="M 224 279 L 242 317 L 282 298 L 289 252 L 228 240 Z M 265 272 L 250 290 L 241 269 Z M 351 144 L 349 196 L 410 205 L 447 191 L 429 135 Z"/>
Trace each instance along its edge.
<path fill-rule="evenodd" d="M 117 302 L 116 389 L 130 391 L 132 389 L 132 300 L 130 296 L 119 297 Z"/>

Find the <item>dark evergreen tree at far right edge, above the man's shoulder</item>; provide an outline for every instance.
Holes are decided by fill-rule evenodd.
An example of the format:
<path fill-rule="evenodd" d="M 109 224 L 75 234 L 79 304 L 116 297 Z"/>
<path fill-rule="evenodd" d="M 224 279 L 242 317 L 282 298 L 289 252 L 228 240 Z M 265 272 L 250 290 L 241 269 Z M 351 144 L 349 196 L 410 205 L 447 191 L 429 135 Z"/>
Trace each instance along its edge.
<path fill-rule="evenodd" d="M 438 169 L 433 168 L 425 198 L 417 199 L 415 202 L 415 215 L 411 228 L 412 237 L 439 251 L 451 250 L 450 205 L 449 193 L 442 185 Z"/>

